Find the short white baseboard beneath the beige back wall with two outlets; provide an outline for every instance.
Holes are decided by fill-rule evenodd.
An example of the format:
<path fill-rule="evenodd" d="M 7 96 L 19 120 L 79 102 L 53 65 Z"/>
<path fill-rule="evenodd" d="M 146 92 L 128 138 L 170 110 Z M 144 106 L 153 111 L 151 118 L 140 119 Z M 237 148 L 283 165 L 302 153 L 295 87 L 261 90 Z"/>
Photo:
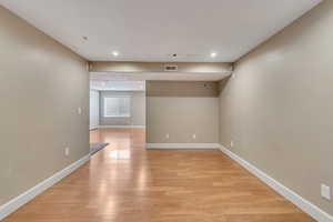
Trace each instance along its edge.
<path fill-rule="evenodd" d="M 219 143 L 145 143 L 147 149 L 219 149 Z"/>

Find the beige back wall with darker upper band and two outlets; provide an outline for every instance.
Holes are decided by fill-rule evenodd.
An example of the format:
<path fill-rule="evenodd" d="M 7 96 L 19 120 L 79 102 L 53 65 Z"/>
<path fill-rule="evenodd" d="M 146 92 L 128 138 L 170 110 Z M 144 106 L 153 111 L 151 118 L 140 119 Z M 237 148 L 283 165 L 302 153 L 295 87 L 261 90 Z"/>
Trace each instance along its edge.
<path fill-rule="evenodd" d="M 150 81 L 147 94 L 148 143 L 219 142 L 216 83 Z"/>

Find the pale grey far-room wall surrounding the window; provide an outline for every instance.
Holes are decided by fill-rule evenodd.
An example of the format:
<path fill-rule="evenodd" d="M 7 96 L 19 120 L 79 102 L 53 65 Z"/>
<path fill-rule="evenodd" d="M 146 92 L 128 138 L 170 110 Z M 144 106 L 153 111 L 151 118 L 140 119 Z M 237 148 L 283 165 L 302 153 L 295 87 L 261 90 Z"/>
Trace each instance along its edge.
<path fill-rule="evenodd" d="M 131 97 L 130 118 L 107 118 L 104 117 L 104 98 L 113 95 Z M 100 97 L 100 125 L 145 125 L 145 92 L 144 91 L 101 91 Z"/>

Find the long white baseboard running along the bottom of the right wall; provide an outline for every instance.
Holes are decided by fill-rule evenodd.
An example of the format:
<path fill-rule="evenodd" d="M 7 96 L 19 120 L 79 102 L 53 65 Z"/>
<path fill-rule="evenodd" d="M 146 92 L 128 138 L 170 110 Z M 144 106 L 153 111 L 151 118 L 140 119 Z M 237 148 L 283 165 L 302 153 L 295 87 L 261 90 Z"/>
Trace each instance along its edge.
<path fill-rule="evenodd" d="M 251 173 L 253 173 L 255 176 L 258 176 L 260 180 L 262 180 L 264 183 L 270 185 L 273 190 L 275 190 L 278 193 L 290 200 L 292 203 L 294 203 L 296 206 L 299 206 L 302 211 L 311 215 L 313 219 L 315 219 L 319 222 L 333 222 L 333 216 L 329 213 L 321 210 L 319 206 L 314 205 L 310 201 L 305 200 L 291 189 L 286 188 L 279 181 L 274 180 L 270 175 L 265 174 L 244 159 L 240 158 L 235 153 L 231 152 L 223 145 L 221 145 L 221 151 L 224 152 L 226 155 L 229 155 L 231 159 L 240 163 L 242 167 L 244 167 L 246 170 L 249 170 Z"/>

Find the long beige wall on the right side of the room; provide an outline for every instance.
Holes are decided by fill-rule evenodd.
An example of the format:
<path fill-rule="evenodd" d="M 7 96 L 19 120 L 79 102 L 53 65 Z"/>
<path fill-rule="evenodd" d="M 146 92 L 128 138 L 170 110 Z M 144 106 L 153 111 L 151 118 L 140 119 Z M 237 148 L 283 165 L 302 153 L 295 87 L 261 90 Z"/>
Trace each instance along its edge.
<path fill-rule="evenodd" d="M 221 143 L 333 214 L 333 1 L 245 56 L 222 87 Z"/>

